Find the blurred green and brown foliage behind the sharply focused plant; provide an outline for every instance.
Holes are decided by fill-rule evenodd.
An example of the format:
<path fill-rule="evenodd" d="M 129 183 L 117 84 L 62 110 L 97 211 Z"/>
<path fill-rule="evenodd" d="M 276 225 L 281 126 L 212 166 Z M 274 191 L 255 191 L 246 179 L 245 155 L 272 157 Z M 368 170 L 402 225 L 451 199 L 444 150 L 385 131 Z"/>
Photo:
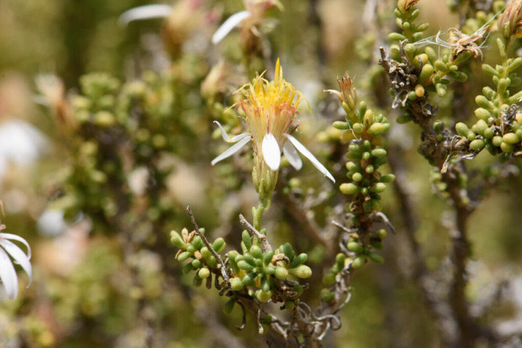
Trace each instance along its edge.
<path fill-rule="evenodd" d="M 226 316 L 220 310 L 223 298 L 191 286 L 192 278 L 182 275 L 169 243 L 171 229 L 188 225 L 185 207 L 191 205 L 207 233 L 238 248 L 242 228 L 237 216 L 249 214 L 256 204 L 250 155 L 210 166 L 210 160 L 227 147 L 211 122 L 219 119 L 232 129 L 240 125 L 226 109 L 233 102 L 231 92 L 249 74 L 242 68 L 239 31 L 218 45 L 211 45 L 210 37 L 225 18 L 244 9 L 243 2 L 192 3 L 198 3 L 194 13 L 179 18 L 174 14 L 172 19 L 186 21 L 186 37 L 169 39 L 162 19 L 118 25 L 125 10 L 148 2 L 0 2 L 0 127 L 23 120 L 39 129 L 34 133 L 31 128 L 25 138 L 13 132 L 9 137 L 7 130 L 0 136 L 1 145 L 9 149 L 3 150 L 0 163 L 0 198 L 6 205 L 2 221 L 6 232 L 30 242 L 35 275 L 29 289 L 20 287 L 14 302 L 0 303 L 0 346 L 262 344 L 252 317 L 243 331 L 236 330 L 239 310 Z M 342 178 L 343 163 L 334 151 L 338 135 L 328 127 L 339 118 L 337 104 L 322 90 L 336 88 L 336 76 L 347 70 L 356 76 L 360 98 L 388 119 L 397 116 L 389 107 L 386 77 L 375 65 L 376 47 L 386 44 L 389 28 L 395 26 L 395 2 L 378 2 L 380 27 L 369 21 L 364 1 L 283 0 L 282 4 L 283 11 L 269 10 L 275 29 L 267 34 L 272 62 L 267 64 L 280 57 L 286 79 L 309 99 L 313 114 L 302 111 L 300 137 Z M 445 2 L 421 1 L 419 6 L 420 21 L 430 22 L 431 34 L 458 21 Z M 485 51 L 485 62 L 497 61 L 495 45 Z M 210 90 L 202 88 L 221 58 L 228 62 L 222 75 L 209 82 Z M 469 69 L 474 71 L 470 83 L 458 91 L 470 96 L 460 109 L 468 112 L 455 114 L 452 105 L 441 100 L 438 115 L 446 122 L 473 118 L 474 95 L 491 83 L 481 73 L 480 61 Z M 99 74 L 85 76 L 91 73 Z M 48 107 L 34 103 L 38 95 L 45 95 L 42 89 L 60 86 L 41 80 L 46 87 L 38 86 L 35 77 L 42 74 L 59 76 L 70 91 L 62 96 L 71 108 L 62 110 L 65 118 L 53 118 Z M 60 114 L 56 104 L 50 106 Z M 68 124 L 67 117 L 75 119 Z M 432 169 L 416 153 L 417 129 L 395 124 L 390 133 L 390 146 L 400 151 L 407 169 L 409 195 L 418 215 L 415 238 L 425 265 L 430 270 L 444 268 L 447 221 L 452 218 L 448 206 L 426 179 Z M 472 165 L 481 175 L 493 161 L 482 153 Z M 278 195 L 287 189 L 315 197 L 323 189 L 333 189 L 321 187 L 309 164 L 299 173 L 284 169 L 281 181 L 284 187 Z M 510 177 L 489 193 L 470 220 L 467 296 L 478 303 L 477 315 L 484 322 L 506 331 L 520 330 L 517 319 L 522 317 L 521 191 L 519 177 Z M 278 195 L 273 205 L 281 209 L 272 208 L 266 218 L 271 238 L 276 245 L 290 241 L 309 253 L 314 284 L 322 277 L 327 251 L 302 233 L 298 223 L 283 219 L 288 213 Z M 393 190 L 383 194 L 383 211 L 398 231 L 386 240 L 386 262 L 355 274 L 352 300 L 341 314 L 343 326 L 329 335 L 327 346 L 440 345 L 433 319 L 411 279 L 411 250 L 401 233 L 395 199 Z M 335 213 L 335 204 L 339 202 L 323 199 L 310 210 L 320 226 Z M 23 277 L 20 285 L 26 284 Z M 500 293 L 492 294 L 496 289 L 492 284 L 503 281 Z M 317 304 L 319 290 L 315 287 L 303 296 Z M 481 313 L 481 302 L 488 301 L 498 305 Z"/>

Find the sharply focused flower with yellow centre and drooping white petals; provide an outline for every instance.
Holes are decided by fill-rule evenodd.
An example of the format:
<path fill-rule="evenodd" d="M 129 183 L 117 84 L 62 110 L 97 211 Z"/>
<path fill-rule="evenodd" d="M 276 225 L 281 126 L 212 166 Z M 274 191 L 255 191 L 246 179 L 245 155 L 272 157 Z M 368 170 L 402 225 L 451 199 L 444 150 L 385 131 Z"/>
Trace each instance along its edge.
<path fill-rule="evenodd" d="M 267 169 L 277 174 L 281 163 L 281 149 L 296 170 L 300 170 L 303 164 L 298 154 L 299 151 L 321 173 L 335 183 L 334 177 L 328 170 L 291 135 L 299 126 L 299 122 L 295 119 L 296 107 L 306 99 L 301 92 L 295 90 L 289 82 L 283 79 L 279 59 L 276 63 L 274 81 L 269 82 L 261 74 L 252 83 L 247 83 L 235 93 L 242 95 L 241 100 L 235 105 L 244 111 L 246 126 L 250 132 L 230 138 L 219 122 L 215 121 L 221 129 L 223 139 L 227 142 L 235 142 L 235 145 L 216 157 L 211 162 L 212 165 L 230 157 L 252 140 L 254 147 L 253 177 L 256 189 L 261 179 L 266 178 L 264 175 L 266 175 Z M 270 183 L 275 185 L 275 182 L 270 181 Z"/>

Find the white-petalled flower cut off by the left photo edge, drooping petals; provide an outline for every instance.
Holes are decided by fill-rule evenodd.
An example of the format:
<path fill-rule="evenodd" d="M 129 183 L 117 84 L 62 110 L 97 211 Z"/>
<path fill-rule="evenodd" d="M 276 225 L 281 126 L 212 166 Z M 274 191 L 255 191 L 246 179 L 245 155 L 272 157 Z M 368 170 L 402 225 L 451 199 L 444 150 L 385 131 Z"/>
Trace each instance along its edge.
<path fill-rule="evenodd" d="M 5 229 L 4 224 L 0 224 L 0 231 Z M 12 241 L 23 243 L 27 247 L 27 255 Z M 15 234 L 0 233 L 0 280 L 9 299 L 15 299 L 18 294 L 18 278 L 15 267 L 9 255 L 18 263 L 29 276 L 29 284 L 32 281 L 32 268 L 29 260 L 31 259 L 31 248 L 25 239 Z"/>

